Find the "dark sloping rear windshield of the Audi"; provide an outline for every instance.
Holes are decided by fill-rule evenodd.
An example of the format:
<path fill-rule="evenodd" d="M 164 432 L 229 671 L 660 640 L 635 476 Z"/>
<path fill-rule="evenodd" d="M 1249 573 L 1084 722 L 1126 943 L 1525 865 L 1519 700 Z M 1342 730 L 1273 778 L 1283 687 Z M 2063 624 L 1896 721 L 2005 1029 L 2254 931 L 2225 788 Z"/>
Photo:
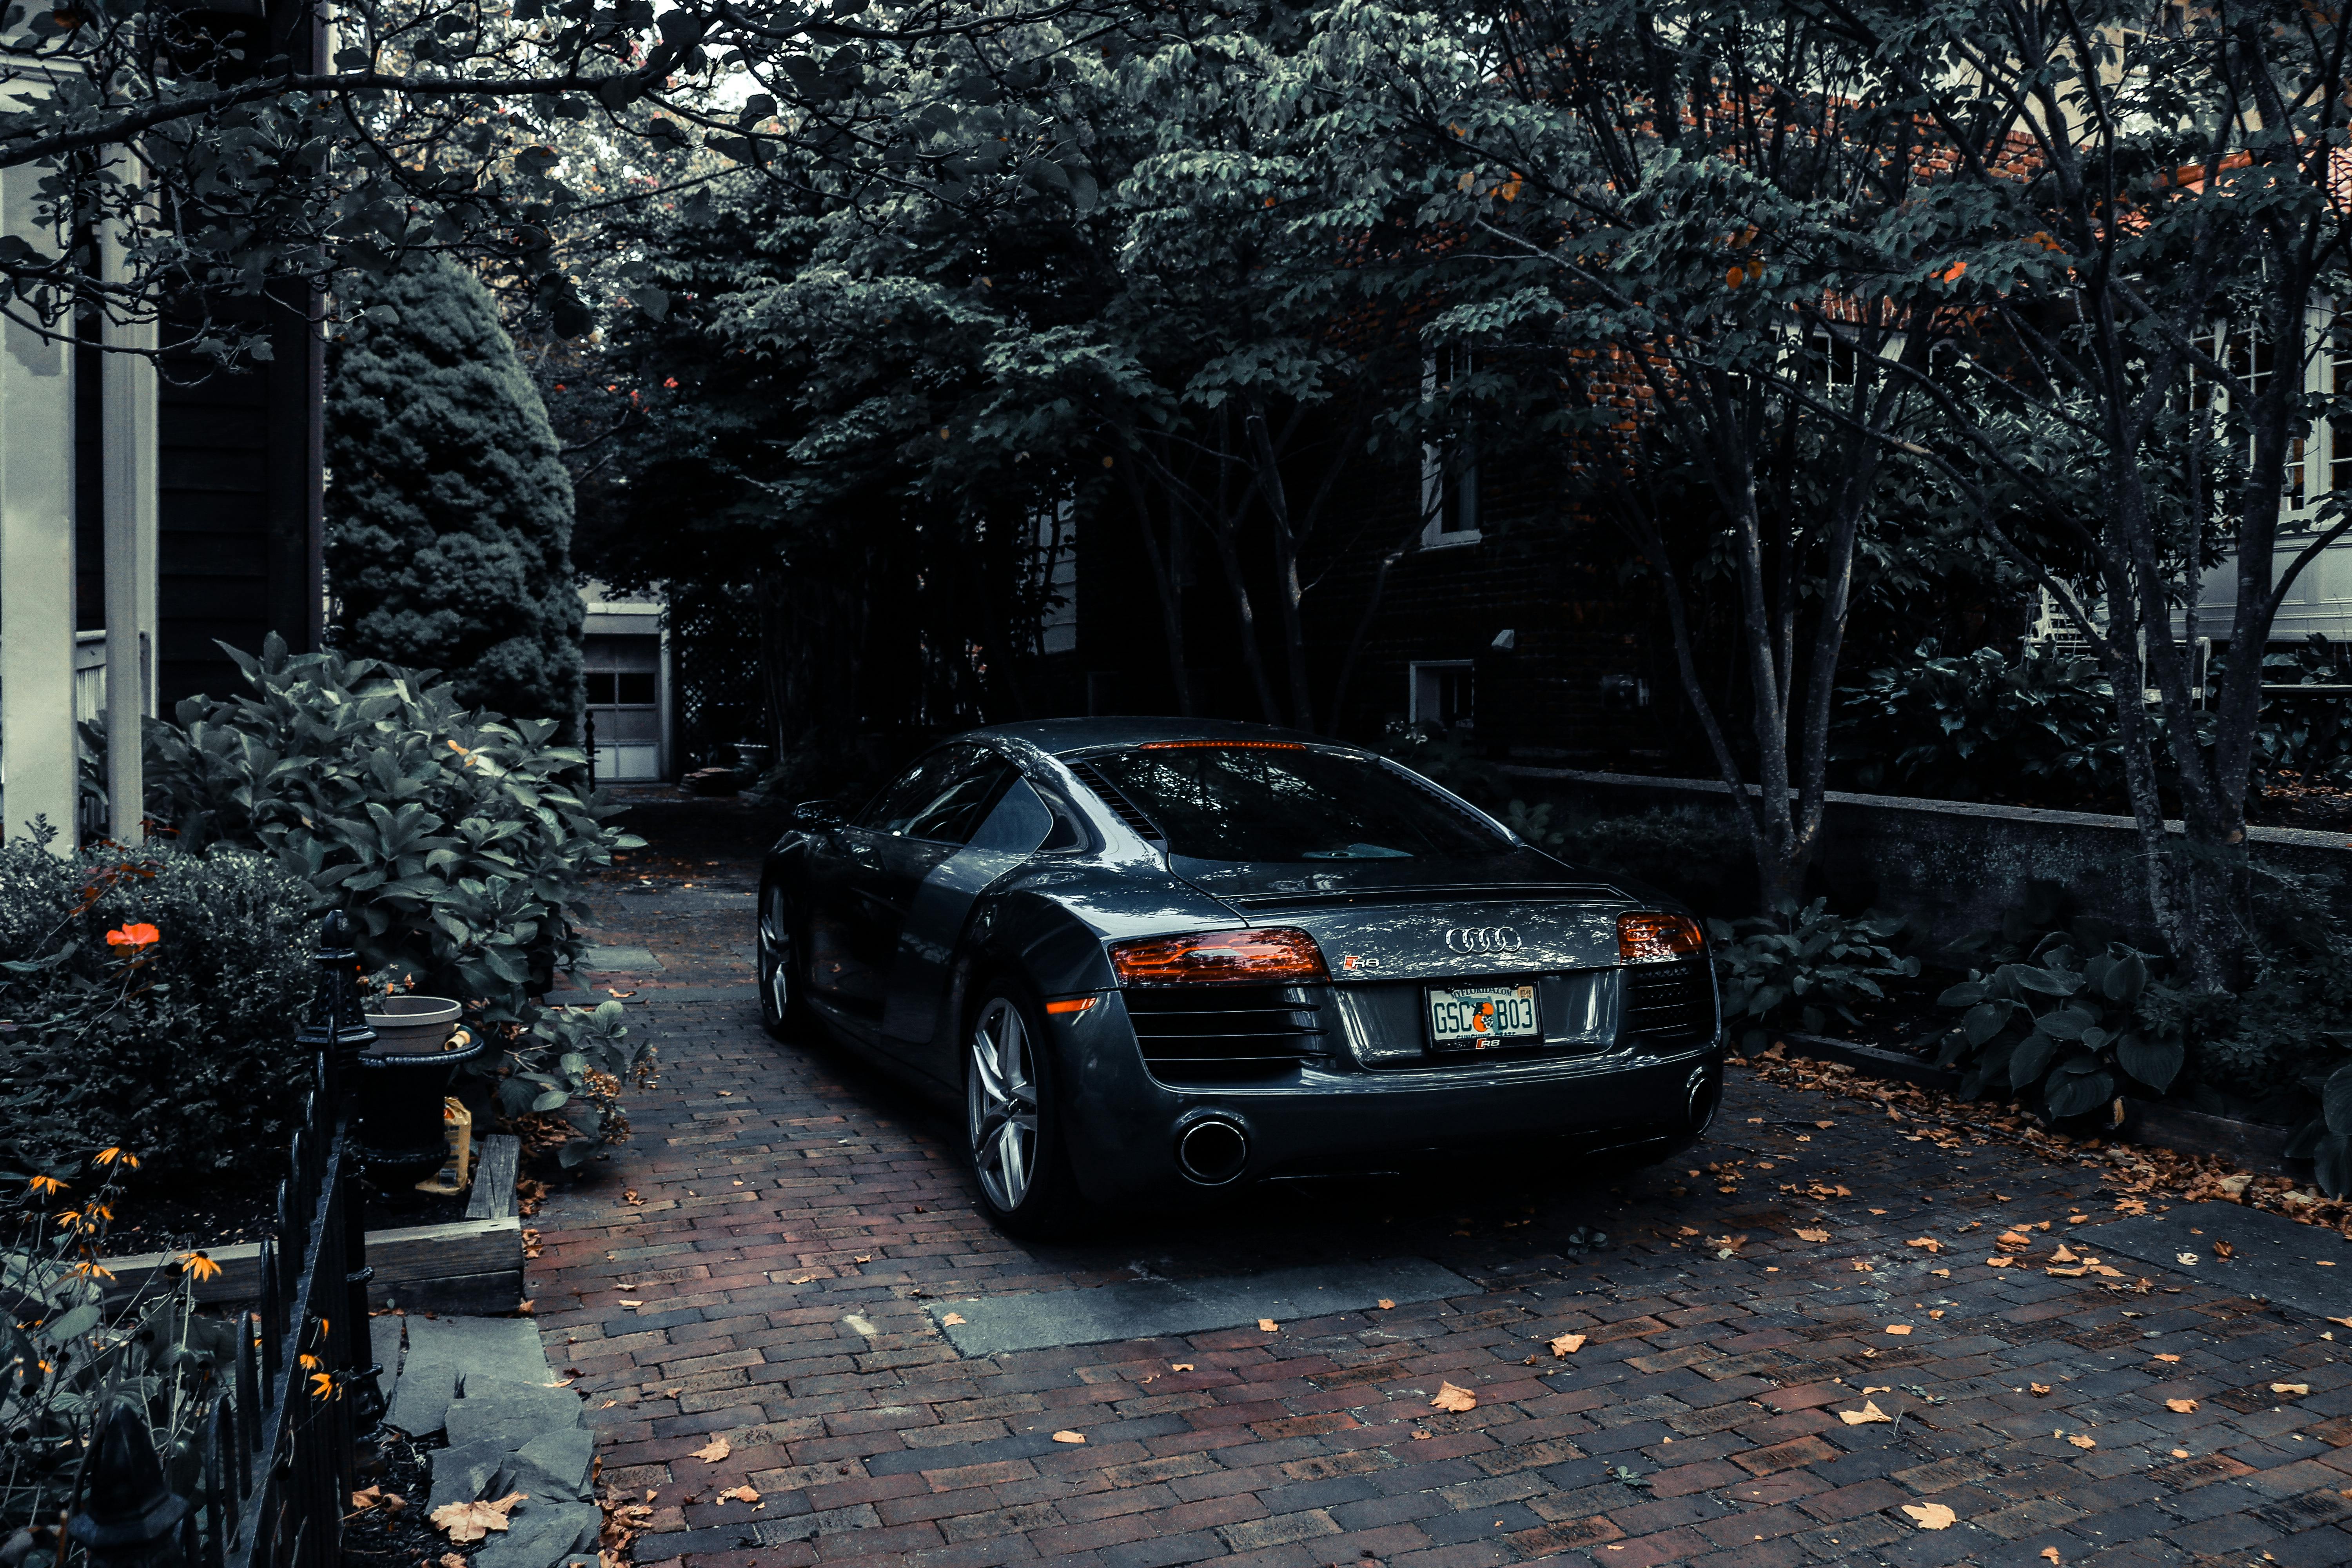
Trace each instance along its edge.
<path fill-rule="evenodd" d="M 1465 860 L 1512 844 L 1369 757 L 1305 745 L 1145 745 L 1089 757 L 1192 860 Z"/>

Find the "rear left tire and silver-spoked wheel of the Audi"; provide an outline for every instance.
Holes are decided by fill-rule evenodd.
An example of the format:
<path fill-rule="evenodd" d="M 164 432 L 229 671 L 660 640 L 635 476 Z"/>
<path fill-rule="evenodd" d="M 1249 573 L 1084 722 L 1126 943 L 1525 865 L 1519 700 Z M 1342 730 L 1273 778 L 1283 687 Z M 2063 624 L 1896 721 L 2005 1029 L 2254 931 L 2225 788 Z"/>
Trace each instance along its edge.
<path fill-rule="evenodd" d="M 964 1030 L 964 1152 L 981 1213 L 1009 1237 L 1065 1237 L 1087 1218 L 1070 1173 L 1054 1053 L 1021 992 L 981 992 Z"/>

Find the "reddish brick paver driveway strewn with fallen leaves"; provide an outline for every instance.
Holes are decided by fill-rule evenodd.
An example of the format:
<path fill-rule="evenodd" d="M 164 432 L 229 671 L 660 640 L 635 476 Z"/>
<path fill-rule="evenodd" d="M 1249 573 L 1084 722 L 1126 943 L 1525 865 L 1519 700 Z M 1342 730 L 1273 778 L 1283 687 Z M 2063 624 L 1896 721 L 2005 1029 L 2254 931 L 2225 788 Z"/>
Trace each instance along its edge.
<path fill-rule="evenodd" d="M 2145 1265 L 2046 1274 L 2098 1255 L 2096 1168 L 1733 1072 L 1665 1171 L 1319 1182 L 1023 1246 L 938 1112 L 760 1032 L 748 867 L 708 875 L 612 910 L 602 940 L 666 966 L 602 978 L 640 985 L 663 1084 L 532 1265 L 607 1488 L 652 1497 L 640 1563 L 2352 1561 L 2336 1328 Z M 1374 1258 L 1475 1291 L 971 1359 L 931 1316 Z M 1432 1408 L 1444 1382 L 1477 1406 Z"/>

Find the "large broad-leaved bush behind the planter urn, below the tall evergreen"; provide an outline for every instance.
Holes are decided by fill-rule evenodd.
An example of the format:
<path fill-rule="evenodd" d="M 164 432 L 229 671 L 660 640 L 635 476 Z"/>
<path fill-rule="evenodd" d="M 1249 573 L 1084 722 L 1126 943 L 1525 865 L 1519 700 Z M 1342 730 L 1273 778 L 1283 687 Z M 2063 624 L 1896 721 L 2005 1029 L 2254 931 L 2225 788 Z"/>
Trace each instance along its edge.
<path fill-rule="evenodd" d="M 320 905 L 343 903 L 365 969 L 468 999 L 503 1044 L 501 1110 L 588 1105 L 602 1138 L 623 1138 L 637 1048 L 619 1004 L 536 1001 L 583 957 L 583 877 L 644 842 L 604 823 L 616 806 L 581 788 L 586 757 L 548 745 L 553 719 L 459 708 L 430 672 L 289 656 L 278 637 L 230 656 L 252 691 L 148 726 L 148 811 L 183 844 L 249 844 Z M 576 1138 L 564 1164 L 590 1147 Z"/>

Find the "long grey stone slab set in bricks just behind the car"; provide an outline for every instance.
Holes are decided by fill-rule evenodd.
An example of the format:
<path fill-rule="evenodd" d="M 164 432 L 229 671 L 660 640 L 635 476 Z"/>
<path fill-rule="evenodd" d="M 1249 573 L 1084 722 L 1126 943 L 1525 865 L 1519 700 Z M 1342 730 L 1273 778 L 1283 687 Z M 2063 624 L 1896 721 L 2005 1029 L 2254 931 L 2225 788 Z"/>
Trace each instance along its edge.
<path fill-rule="evenodd" d="M 964 1356 L 997 1356 L 1054 1345 L 1103 1345 L 1240 1328 L 1261 1319 L 1364 1312 L 1388 1302 L 1432 1302 L 1475 1291 L 1454 1269 L 1421 1258 L 1275 1269 L 1240 1279 L 1138 1279 L 1094 1291 L 978 1295 L 938 1302 L 931 1316 Z M 948 1319 L 962 1319 L 950 1324 Z"/>

